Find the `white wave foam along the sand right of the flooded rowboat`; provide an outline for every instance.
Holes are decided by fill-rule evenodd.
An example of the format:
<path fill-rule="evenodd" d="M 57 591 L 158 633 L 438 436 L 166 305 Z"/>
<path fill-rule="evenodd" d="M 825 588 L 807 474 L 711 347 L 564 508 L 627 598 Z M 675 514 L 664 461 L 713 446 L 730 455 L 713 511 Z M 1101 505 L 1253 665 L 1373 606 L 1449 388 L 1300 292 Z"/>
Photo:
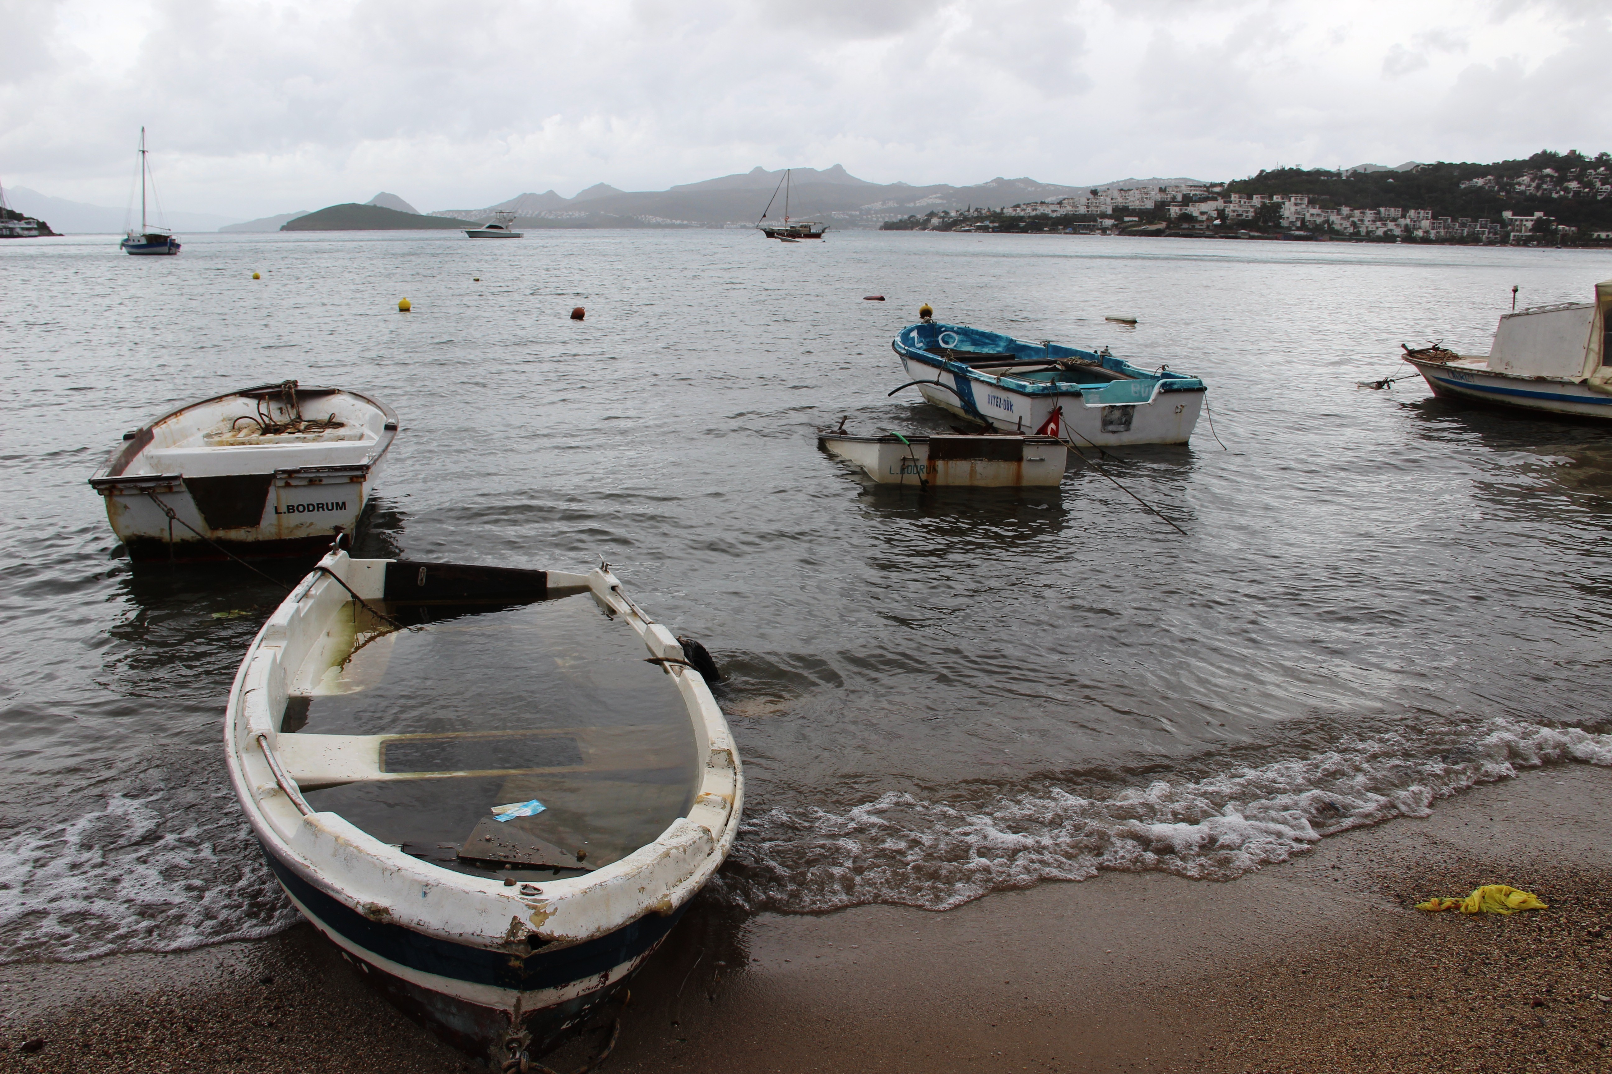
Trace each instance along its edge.
<path fill-rule="evenodd" d="M 949 910 L 1099 870 L 1233 879 L 1325 836 L 1427 816 L 1435 799 L 1567 760 L 1612 765 L 1612 734 L 1498 718 L 1111 797 L 1054 787 L 969 808 L 891 792 L 845 813 L 772 810 L 740 828 L 714 890 L 750 910 L 817 913 L 875 902 Z"/>

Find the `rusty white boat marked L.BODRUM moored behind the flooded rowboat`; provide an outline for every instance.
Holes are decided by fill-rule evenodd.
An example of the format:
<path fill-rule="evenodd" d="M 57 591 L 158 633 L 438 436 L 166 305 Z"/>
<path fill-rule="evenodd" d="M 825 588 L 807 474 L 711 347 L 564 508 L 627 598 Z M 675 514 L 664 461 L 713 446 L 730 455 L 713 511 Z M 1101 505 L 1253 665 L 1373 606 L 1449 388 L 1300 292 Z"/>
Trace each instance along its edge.
<path fill-rule="evenodd" d="M 356 391 L 260 385 L 124 433 L 90 485 L 134 560 L 319 556 L 358 527 L 397 428 Z"/>

